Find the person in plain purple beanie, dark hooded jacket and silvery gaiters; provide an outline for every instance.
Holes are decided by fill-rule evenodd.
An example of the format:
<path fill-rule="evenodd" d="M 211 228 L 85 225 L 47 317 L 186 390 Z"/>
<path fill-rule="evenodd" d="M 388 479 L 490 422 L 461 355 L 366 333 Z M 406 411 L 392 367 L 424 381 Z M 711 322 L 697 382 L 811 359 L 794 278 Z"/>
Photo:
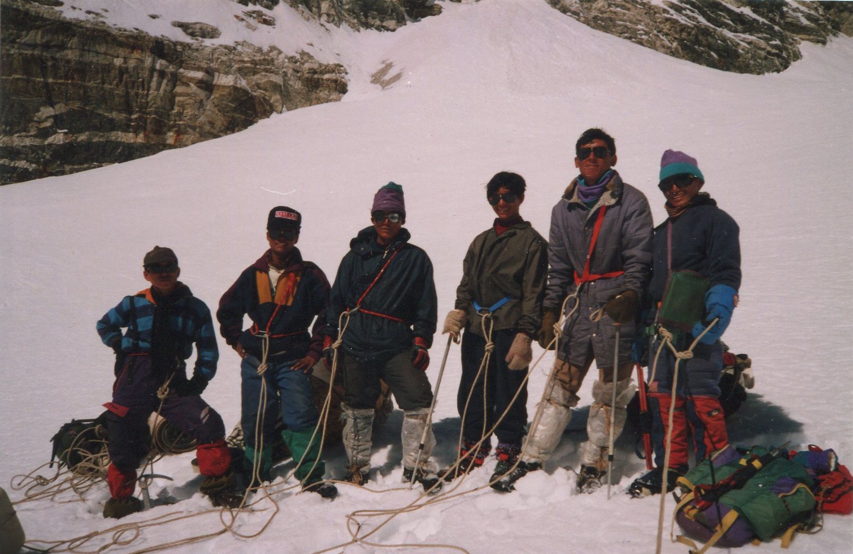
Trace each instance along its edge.
<path fill-rule="evenodd" d="M 370 220 L 373 225 L 358 232 L 340 262 L 327 314 L 329 341 L 341 340 L 337 371 L 344 383 L 345 480 L 357 485 L 368 481 L 381 379 L 403 410 L 403 481 L 414 475 L 425 489 L 435 491 L 441 483 L 430 459 L 435 437 L 428 422 L 432 388 L 425 373 L 438 318 L 432 261 L 409 242 L 399 184 L 388 183 L 376 192 Z M 341 320 L 344 327 L 339 329 Z M 327 352 L 331 355 L 332 349 Z M 425 429 L 427 439 L 419 452 Z"/>

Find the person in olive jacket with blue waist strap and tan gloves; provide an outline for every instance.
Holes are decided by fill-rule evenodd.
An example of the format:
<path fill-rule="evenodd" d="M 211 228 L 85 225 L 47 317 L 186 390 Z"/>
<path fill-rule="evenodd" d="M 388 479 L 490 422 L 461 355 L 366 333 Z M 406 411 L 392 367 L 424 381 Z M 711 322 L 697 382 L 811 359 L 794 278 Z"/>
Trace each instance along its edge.
<path fill-rule="evenodd" d="M 447 480 L 485 463 L 491 451 L 489 434 L 471 451 L 504 411 L 495 429 L 498 464 L 490 481 L 499 481 L 514 467 L 526 434 L 525 377 L 533 358 L 531 341 L 542 321 L 548 242 L 519 213 L 525 189 L 524 178 L 513 172 L 496 173 L 486 184 L 486 200 L 496 219 L 468 247 L 456 308 L 444 321 L 443 334 L 461 335 L 456 406 L 464 421 L 459 463 L 446 473 Z M 494 349 L 480 372 L 489 339 Z"/>

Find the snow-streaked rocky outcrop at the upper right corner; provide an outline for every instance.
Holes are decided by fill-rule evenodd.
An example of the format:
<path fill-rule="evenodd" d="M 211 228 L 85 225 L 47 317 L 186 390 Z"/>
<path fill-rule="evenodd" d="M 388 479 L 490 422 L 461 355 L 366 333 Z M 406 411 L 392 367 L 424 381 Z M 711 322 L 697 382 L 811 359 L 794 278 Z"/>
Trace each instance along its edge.
<path fill-rule="evenodd" d="M 853 3 L 788 0 L 547 0 L 599 31 L 703 66 L 780 72 L 798 44 L 850 33 Z"/>

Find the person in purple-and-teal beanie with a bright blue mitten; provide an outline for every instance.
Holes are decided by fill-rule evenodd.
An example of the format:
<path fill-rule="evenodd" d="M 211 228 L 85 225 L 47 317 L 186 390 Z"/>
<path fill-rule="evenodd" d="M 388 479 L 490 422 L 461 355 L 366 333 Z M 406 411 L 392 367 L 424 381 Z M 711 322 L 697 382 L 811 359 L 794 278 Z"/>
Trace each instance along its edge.
<path fill-rule="evenodd" d="M 654 230 L 653 273 L 648 287 L 650 306 L 647 323 L 653 324 L 659 301 L 672 271 L 696 271 L 708 280 L 705 293 L 705 320 L 693 332 L 676 337 L 675 347 L 687 350 L 695 337 L 718 318 L 717 324 L 702 335 L 693 348 L 693 358 L 679 364 L 672 423 L 667 489 L 688 469 L 688 436 L 693 438 L 695 459 L 711 455 L 728 444 L 728 432 L 720 405 L 719 381 L 722 374 L 720 337 L 728 327 L 740 289 L 740 229 L 717 201 L 702 192 L 705 177 L 695 158 L 676 150 L 666 150 L 660 160 L 659 189 L 666 198 L 666 221 Z M 659 343 L 653 342 L 650 353 Z M 673 370 L 676 359 L 664 348 L 655 367 L 654 381 L 648 386 L 652 412 L 652 440 L 657 467 L 634 481 L 634 496 L 660 493 L 663 485 L 664 437 L 672 406 Z"/>

